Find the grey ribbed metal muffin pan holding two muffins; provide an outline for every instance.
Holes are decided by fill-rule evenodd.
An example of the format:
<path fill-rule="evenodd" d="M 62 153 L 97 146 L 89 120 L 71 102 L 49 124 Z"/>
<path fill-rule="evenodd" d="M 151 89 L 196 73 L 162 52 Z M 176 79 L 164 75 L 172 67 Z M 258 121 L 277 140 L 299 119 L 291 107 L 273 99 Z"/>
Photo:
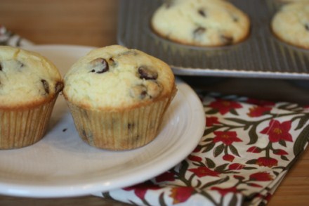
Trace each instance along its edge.
<path fill-rule="evenodd" d="M 157 36 L 150 28 L 150 18 L 162 0 L 120 0 L 117 41 L 164 60 L 175 75 L 309 79 L 309 50 L 280 41 L 270 30 L 280 1 L 231 3 L 251 20 L 249 37 L 239 44 L 186 46 Z"/>

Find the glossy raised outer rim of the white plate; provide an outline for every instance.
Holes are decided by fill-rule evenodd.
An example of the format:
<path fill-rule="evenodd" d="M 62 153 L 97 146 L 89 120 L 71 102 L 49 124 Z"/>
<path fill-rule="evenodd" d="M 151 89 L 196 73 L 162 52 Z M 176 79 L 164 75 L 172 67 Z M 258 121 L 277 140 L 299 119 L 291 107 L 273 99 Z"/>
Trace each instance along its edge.
<path fill-rule="evenodd" d="M 79 46 L 79 45 L 67 45 L 67 44 L 41 44 L 41 45 L 34 45 L 34 46 L 23 46 L 23 49 L 86 49 L 91 50 L 96 47 L 93 46 Z M 190 139 L 192 143 L 190 147 L 187 148 L 185 153 L 181 153 L 181 155 L 177 155 L 176 157 L 173 156 L 174 162 L 171 164 L 171 157 L 166 158 L 166 160 L 157 160 L 156 162 L 160 162 L 160 167 L 153 169 L 152 166 L 147 166 L 142 168 L 147 172 L 140 179 L 140 174 L 129 174 L 129 181 L 126 181 L 126 184 L 123 184 L 124 179 L 128 179 L 128 177 L 122 177 L 117 180 L 112 180 L 112 182 L 107 181 L 96 181 L 96 182 L 88 182 L 88 184 L 72 184 L 72 185 L 57 185 L 57 186 L 41 186 L 41 185 L 25 185 L 19 183 L 5 183 L 0 181 L 0 193 L 3 195 L 11 195 L 11 196 L 18 196 L 18 197 L 27 197 L 27 198 L 65 198 L 65 197 L 74 197 L 80 195 L 91 195 L 91 193 L 97 192 L 105 192 L 110 191 L 117 188 L 123 188 L 126 186 L 131 186 L 133 184 L 138 184 L 140 182 L 146 181 L 147 179 L 151 179 L 162 172 L 166 172 L 171 167 L 174 167 L 179 162 L 185 159 L 192 150 L 198 145 L 200 139 L 202 138 L 202 134 L 204 133 L 204 125 L 205 125 L 205 117 L 204 117 L 204 108 L 202 102 L 199 100 L 199 97 L 195 93 L 195 91 L 183 80 L 178 79 L 176 77 L 176 84 L 178 86 L 178 92 L 182 92 L 183 96 L 186 97 L 185 101 L 190 106 L 190 119 L 195 120 L 195 124 L 190 124 L 190 128 L 187 131 L 193 131 L 194 134 L 190 136 L 195 137 L 195 139 Z M 194 117 L 194 118 L 193 118 Z M 197 123 L 196 123 L 197 122 Z M 191 128 L 194 126 L 194 129 Z M 183 136 L 183 134 L 182 134 Z M 178 137 L 179 138 L 179 137 Z M 0 151 L 1 152 L 1 151 Z M 158 165 L 158 164 L 157 164 Z M 141 165 L 140 165 L 141 166 Z M 136 181 L 138 179 L 138 181 Z M 87 188 L 88 187 L 88 188 Z"/>

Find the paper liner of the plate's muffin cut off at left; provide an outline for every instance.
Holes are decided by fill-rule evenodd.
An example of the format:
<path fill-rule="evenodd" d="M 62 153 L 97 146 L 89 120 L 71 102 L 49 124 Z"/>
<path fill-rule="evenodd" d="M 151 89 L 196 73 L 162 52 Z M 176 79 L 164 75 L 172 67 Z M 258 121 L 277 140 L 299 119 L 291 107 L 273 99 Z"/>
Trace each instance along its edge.
<path fill-rule="evenodd" d="M 22 148 L 41 140 L 57 96 L 33 108 L 0 109 L 0 149 Z"/>

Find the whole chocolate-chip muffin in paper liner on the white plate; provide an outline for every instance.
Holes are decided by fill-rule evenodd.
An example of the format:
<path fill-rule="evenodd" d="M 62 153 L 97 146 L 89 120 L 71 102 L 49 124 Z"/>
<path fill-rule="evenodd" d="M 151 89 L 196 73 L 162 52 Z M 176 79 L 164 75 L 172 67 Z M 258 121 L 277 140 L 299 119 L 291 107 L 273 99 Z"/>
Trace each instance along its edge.
<path fill-rule="evenodd" d="M 79 136 L 107 150 L 131 150 L 155 139 L 176 94 L 169 65 L 119 45 L 80 58 L 64 83 L 63 95 Z"/>

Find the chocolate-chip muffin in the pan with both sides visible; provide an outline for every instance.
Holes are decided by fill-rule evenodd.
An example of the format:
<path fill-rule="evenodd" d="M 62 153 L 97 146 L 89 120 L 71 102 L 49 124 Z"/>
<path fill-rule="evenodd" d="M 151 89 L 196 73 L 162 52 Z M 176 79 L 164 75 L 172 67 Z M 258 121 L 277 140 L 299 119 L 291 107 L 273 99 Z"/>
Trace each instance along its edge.
<path fill-rule="evenodd" d="M 223 0 L 170 0 L 151 18 L 160 37 L 191 46 L 237 44 L 249 35 L 248 16 Z"/>

